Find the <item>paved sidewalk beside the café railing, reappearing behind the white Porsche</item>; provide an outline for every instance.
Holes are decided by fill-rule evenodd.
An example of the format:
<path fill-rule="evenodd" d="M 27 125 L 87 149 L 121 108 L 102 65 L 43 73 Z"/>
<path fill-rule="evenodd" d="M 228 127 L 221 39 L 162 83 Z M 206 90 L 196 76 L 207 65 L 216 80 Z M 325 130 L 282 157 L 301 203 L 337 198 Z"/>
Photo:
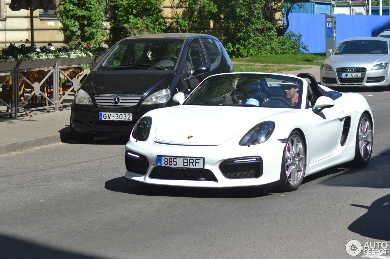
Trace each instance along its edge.
<path fill-rule="evenodd" d="M 319 66 L 307 67 L 283 74 L 307 72 L 319 81 Z M 69 121 L 70 107 L 58 112 L 32 111 L 28 116 L 20 113 L 16 119 L 0 119 L 0 155 L 72 141 Z"/>

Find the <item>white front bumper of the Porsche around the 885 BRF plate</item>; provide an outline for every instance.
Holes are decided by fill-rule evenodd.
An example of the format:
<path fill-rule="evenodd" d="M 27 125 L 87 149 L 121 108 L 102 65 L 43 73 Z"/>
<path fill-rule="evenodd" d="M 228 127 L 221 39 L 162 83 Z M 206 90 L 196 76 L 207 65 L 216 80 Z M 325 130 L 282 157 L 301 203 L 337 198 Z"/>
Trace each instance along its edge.
<path fill-rule="evenodd" d="M 135 142 L 131 139 L 126 145 L 125 160 L 127 170 L 125 178 L 150 185 L 181 187 L 225 188 L 275 186 L 280 184 L 280 170 L 284 146 L 285 143 L 271 139 L 252 146 L 239 146 L 238 143 L 232 143 L 232 141 L 209 146 L 194 146 L 168 144 L 158 140 Z M 129 158 L 128 153 L 132 154 L 131 158 Z M 138 155 L 138 159 L 140 160 L 137 162 L 137 158 L 135 158 L 133 163 L 128 163 L 129 159 L 134 159 L 133 155 Z M 158 155 L 204 157 L 204 169 L 157 166 Z M 234 161 L 253 157 L 257 158 L 257 163 L 261 166 L 261 173 L 248 173 L 245 171 L 246 169 L 243 169 L 245 172 L 234 174 L 234 178 L 231 178 L 230 176 L 232 174 L 227 174 L 224 169 L 221 171 L 223 164 L 230 164 L 231 168 L 238 168 L 239 166 Z M 131 166 L 130 164 L 135 166 Z M 249 171 L 254 170 L 253 165 L 249 165 L 248 163 L 245 166 L 242 165 L 241 167 L 246 166 L 246 168 L 249 168 Z M 229 167 L 227 170 L 229 170 Z M 234 171 L 234 169 L 232 170 Z M 243 178 L 240 178 L 241 176 Z"/>

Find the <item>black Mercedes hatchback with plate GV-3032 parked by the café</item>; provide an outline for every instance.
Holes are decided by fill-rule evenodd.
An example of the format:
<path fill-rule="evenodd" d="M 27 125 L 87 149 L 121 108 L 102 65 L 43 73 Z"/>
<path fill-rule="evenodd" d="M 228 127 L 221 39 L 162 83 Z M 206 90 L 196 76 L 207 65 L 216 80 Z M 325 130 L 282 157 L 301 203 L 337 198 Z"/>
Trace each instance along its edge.
<path fill-rule="evenodd" d="M 103 132 L 131 132 L 152 109 L 174 106 L 207 76 L 233 72 L 221 42 L 210 35 L 165 33 L 122 39 L 83 81 L 71 107 L 76 141 Z"/>

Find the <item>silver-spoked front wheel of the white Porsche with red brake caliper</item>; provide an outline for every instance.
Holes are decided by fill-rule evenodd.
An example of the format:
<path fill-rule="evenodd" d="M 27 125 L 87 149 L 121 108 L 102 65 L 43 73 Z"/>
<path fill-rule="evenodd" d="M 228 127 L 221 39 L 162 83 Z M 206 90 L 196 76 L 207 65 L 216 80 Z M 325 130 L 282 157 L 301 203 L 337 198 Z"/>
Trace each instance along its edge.
<path fill-rule="evenodd" d="M 284 147 L 279 190 L 291 192 L 301 185 L 306 171 L 306 144 L 298 131 L 291 132 Z"/>

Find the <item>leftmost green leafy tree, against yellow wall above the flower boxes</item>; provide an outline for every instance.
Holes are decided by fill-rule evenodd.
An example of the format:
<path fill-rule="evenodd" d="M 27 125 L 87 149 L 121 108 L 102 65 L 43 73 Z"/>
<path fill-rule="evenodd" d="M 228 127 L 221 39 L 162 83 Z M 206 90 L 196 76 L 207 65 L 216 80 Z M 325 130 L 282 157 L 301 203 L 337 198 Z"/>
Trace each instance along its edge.
<path fill-rule="evenodd" d="M 103 27 L 105 1 L 96 0 L 61 0 L 57 11 L 62 24 L 65 42 L 98 44 L 103 42 L 108 33 Z"/>

